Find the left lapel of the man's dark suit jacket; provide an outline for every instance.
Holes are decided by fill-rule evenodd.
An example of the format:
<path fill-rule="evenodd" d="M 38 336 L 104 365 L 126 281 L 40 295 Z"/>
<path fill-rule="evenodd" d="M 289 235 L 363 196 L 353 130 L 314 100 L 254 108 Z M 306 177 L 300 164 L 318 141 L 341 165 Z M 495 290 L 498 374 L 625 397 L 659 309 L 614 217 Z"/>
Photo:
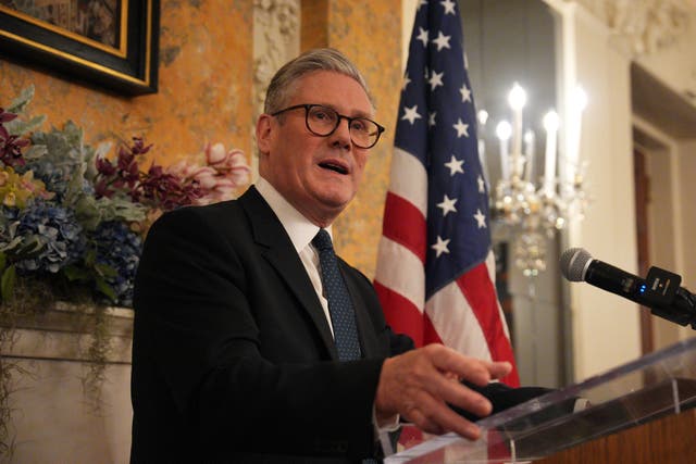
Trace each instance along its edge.
<path fill-rule="evenodd" d="M 316 291 L 307 275 L 302 261 L 277 216 L 253 186 L 239 198 L 239 202 L 249 217 L 253 238 L 262 248 L 261 255 L 277 271 L 300 301 L 316 327 L 331 358 L 338 360 L 338 352 L 324 315 L 324 309 L 316 298 Z"/>

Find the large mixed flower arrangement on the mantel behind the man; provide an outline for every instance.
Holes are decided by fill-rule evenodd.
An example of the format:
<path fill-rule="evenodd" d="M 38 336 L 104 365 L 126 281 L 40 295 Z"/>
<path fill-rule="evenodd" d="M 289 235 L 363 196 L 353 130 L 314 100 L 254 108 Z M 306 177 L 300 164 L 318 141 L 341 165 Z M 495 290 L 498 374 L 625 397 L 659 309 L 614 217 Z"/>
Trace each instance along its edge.
<path fill-rule="evenodd" d="M 204 148 L 204 164 L 171 166 L 142 159 L 152 149 L 134 137 L 109 159 L 67 122 L 39 131 L 44 116 L 21 115 L 34 97 L 24 90 L 0 108 L 0 299 L 20 281 L 78 286 L 98 301 L 132 304 L 141 240 L 162 212 L 232 198 L 248 181 L 239 150 Z M 0 102 L 1 103 L 1 102 Z"/>

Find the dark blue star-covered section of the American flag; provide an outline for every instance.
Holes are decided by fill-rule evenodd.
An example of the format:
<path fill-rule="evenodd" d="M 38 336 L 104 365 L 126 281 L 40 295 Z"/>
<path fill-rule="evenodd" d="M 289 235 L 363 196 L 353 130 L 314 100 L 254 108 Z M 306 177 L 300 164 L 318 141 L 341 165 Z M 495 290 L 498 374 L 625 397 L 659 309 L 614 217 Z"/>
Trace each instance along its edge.
<path fill-rule="evenodd" d="M 427 172 L 425 298 L 486 259 L 488 192 L 457 3 L 421 0 L 413 25 L 395 146 Z"/>

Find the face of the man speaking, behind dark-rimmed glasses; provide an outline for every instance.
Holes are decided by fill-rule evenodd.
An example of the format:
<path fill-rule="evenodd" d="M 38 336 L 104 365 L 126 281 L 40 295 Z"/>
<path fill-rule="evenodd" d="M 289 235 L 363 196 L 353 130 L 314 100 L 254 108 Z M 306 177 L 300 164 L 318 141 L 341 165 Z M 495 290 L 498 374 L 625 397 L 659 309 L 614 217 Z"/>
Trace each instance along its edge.
<path fill-rule="evenodd" d="M 316 71 L 304 75 L 296 86 L 284 108 L 322 104 L 346 116 L 372 117 L 368 95 L 348 76 Z M 257 141 L 260 174 L 320 227 L 331 224 L 355 197 L 370 151 L 350 141 L 345 120 L 328 137 L 310 133 L 304 109 L 262 115 Z"/>

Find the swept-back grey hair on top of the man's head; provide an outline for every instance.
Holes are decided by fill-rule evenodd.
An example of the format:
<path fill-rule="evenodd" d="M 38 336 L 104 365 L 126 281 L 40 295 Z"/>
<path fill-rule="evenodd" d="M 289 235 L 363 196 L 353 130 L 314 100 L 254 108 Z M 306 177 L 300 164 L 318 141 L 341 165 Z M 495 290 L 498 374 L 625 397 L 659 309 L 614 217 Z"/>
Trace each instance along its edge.
<path fill-rule="evenodd" d="M 265 92 L 263 112 L 266 114 L 283 110 L 287 100 L 296 90 L 297 81 L 306 74 L 315 71 L 333 71 L 352 77 L 368 93 L 370 102 L 374 106 L 368 84 L 358 67 L 346 58 L 345 54 L 333 48 L 319 48 L 309 50 L 296 59 L 287 62 L 271 79 Z"/>

